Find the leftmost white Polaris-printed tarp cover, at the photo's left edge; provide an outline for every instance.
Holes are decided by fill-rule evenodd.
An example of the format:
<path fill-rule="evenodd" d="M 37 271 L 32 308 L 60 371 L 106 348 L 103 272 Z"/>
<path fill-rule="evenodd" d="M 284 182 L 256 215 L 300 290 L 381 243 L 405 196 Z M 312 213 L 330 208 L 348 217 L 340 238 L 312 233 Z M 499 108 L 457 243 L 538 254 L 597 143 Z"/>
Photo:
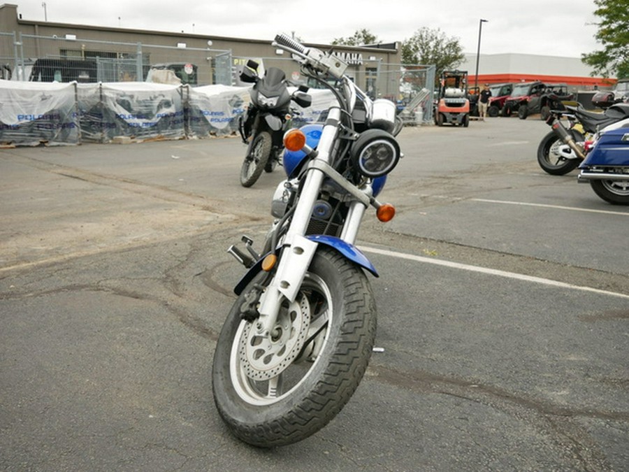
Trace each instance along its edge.
<path fill-rule="evenodd" d="M 77 144 L 75 83 L 0 80 L 0 143 Z"/>

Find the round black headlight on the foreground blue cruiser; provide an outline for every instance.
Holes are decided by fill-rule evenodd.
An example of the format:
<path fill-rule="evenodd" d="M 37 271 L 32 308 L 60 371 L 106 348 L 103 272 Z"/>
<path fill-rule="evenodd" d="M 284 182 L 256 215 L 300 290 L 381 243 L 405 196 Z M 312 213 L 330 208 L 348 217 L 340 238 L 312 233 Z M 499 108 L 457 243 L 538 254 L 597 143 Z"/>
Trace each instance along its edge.
<path fill-rule="evenodd" d="M 352 144 L 349 154 L 363 176 L 386 176 L 400 160 L 396 138 L 382 129 L 368 129 Z"/>

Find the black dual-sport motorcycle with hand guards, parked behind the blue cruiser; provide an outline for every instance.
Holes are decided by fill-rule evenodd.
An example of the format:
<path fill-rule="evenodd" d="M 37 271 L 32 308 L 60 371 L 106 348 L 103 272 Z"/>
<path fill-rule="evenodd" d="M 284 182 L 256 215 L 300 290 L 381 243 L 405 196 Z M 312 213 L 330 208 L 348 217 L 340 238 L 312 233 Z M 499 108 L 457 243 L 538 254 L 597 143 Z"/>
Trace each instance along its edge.
<path fill-rule="evenodd" d="M 280 162 L 284 150 L 282 138 L 291 122 L 291 102 L 302 108 L 310 106 L 312 97 L 306 94 L 308 87 L 299 87 L 289 93 L 286 75 L 282 69 L 269 67 L 263 77 L 257 73 L 259 64 L 253 60 L 240 73 L 240 80 L 253 83 L 250 90 L 251 103 L 240 115 L 238 131 L 243 143 L 247 144 L 247 155 L 240 168 L 240 184 L 251 187 L 262 171 L 273 172 Z"/>

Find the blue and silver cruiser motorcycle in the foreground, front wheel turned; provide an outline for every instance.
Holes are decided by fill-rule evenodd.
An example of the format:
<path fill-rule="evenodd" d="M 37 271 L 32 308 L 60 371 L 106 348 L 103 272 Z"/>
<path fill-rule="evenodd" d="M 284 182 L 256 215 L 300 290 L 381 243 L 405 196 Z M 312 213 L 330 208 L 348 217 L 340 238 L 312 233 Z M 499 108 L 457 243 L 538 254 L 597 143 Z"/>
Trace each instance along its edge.
<path fill-rule="evenodd" d="M 212 386 L 232 433 L 259 447 L 319 431 L 367 369 L 376 306 L 366 272 L 377 271 L 354 244 L 370 206 L 382 222 L 395 214 L 376 197 L 401 157 L 391 134 L 393 102 L 372 101 L 331 51 L 284 34 L 273 45 L 289 52 L 304 76 L 328 87 L 338 105 L 324 123 L 285 134 L 287 179 L 273 196 L 275 222 L 261 252 L 246 236 L 246 249 L 229 248 L 249 270 L 219 334 Z"/>

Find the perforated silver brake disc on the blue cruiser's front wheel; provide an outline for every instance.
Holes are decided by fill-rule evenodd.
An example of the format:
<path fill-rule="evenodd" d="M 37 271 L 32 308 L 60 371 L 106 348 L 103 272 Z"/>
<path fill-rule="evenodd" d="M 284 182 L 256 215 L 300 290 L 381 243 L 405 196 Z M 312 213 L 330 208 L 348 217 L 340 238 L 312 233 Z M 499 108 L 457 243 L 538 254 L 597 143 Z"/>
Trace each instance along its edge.
<path fill-rule="evenodd" d="M 282 373 L 303 348 L 309 325 L 310 303 L 304 294 L 280 311 L 270 336 L 258 336 L 255 322 L 247 323 L 238 346 L 240 365 L 247 377 L 269 380 Z"/>

